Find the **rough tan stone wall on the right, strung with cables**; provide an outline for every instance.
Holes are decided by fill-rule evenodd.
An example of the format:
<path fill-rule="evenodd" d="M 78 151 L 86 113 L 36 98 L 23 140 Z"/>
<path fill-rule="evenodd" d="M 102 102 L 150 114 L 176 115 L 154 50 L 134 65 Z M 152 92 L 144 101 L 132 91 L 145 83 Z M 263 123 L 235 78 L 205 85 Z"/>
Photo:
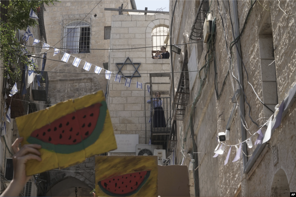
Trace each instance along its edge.
<path fill-rule="evenodd" d="M 232 35 L 232 28 L 229 18 L 229 12 L 231 13 L 231 19 L 234 23 L 233 17 L 233 5 L 232 1 L 228 5 L 227 1 L 218 1 L 220 4 L 220 12 L 223 17 L 225 31 L 228 33 L 227 42 L 230 43 L 234 38 Z M 224 7 L 225 3 L 225 7 Z M 172 14 L 173 6 L 175 1 L 170 1 L 170 15 Z M 200 1 L 178 1 L 176 6 L 176 11 L 174 15 L 174 23 L 172 28 L 172 38 L 173 43 L 186 43 L 193 40 L 186 38 L 186 34 L 190 35 L 191 27 L 194 22 L 194 17 L 196 15 L 197 8 L 200 4 Z M 263 9 L 262 4 L 266 9 L 271 12 Z M 274 49 L 274 64 L 276 69 L 276 92 L 277 92 L 277 102 L 281 103 L 282 100 L 287 96 L 288 89 L 295 84 L 295 38 L 293 33 L 295 31 L 295 25 L 292 25 L 294 22 L 293 17 L 287 17 L 284 12 L 279 9 L 277 2 L 270 1 L 260 1 L 255 3 L 250 18 L 246 24 L 245 30 L 241 37 L 241 51 L 242 59 L 246 67 L 246 71 L 243 70 L 244 77 L 244 92 L 247 95 L 245 99 L 244 110 L 245 110 L 245 121 L 247 138 L 250 137 L 250 133 L 253 134 L 258 130 L 258 127 L 252 123 L 249 118 L 249 107 L 246 103 L 250 103 L 250 116 L 258 125 L 262 125 L 272 114 L 266 111 L 266 108 L 263 108 L 263 105 L 256 97 L 255 93 L 252 90 L 252 87 L 247 82 L 247 74 L 249 77 L 250 84 L 253 85 L 255 92 L 258 94 L 263 102 L 268 103 L 266 97 L 264 97 L 264 91 L 270 93 L 272 86 L 265 87 L 266 83 L 266 70 L 264 70 L 262 63 L 260 65 L 260 59 L 262 59 L 262 51 L 260 51 L 259 46 L 259 35 L 267 35 L 267 32 L 262 33 L 262 28 L 266 24 L 266 18 L 270 23 L 268 26 L 271 27 L 273 35 L 273 49 Z M 287 14 L 294 14 L 296 9 L 292 8 L 292 4 L 295 4 L 295 1 L 286 1 L 281 3 L 280 6 L 284 9 Z M 238 1 L 238 15 L 239 15 L 239 30 L 242 31 L 244 21 L 247 15 L 247 12 L 250 9 L 250 2 Z M 230 9 L 229 9 L 230 7 Z M 200 92 L 200 98 L 198 99 L 194 108 L 186 107 L 186 115 L 183 121 L 178 121 L 178 145 L 176 147 L 177 153 L 177 163 L 180 164 L 183 161 L 183 154 L 186 159 L 184 159 L 183 164 L 189 165 L 190 159 L 187 153 L 193 152 L 192 150 L 192 136 L 189 127 L 190 113 L 193 109 L 193 129 L 194 129 L 194 139 L 197 144 L 198 153 L 198 185 L 195 185 L 199 189 L 200 196 L 233 196 L 234 192 L 238 190 L 237 195 L 239 196 L 270 196 L 276 193 L 273 189 L 271 192 L 271 187 L 273 183 L 274 176 L 276 172 L 280 169 L 284 170 L 285 175 L 287 176 L 288 187 L 290 191 L 295 191 L 295 143 L 293 139 L 295 138 L 294 124 L 295 124 L 295 107 L 294 103 L 290 108 L 287 115 L 282 120 L 281 126 L 276 129 L 276 131 L 271 136 L 268 144 L 276 146 L 279 155 L 279 162 L 274 165 L 272 150 L 268 149 L 267 153 L 263 156 L 262 161 L 258 165 L 257 169 L 249 174 L 250 178 L 244 174 L 242 155 L 237 162 L 231 162 L 235 157 L 235 149 L 232 147 L 229 162 L 227 165 L 224 165 L 226 155 L 228 153 L 229 147 L 227 147 L 222 155 L 219 155 L 216 158 L 213 158 L 213 150 L 217 146 L 216 135 L 218 132 L 224 132 L 229 115 L 232 109 L 231 97 L 234 94 L 234 91 L 237 89 L 238 84 L 234 78 L 228 76 L 226 78 L 226 84 L 223 90 L 222 84 L 227 72 L 229 71 L 229 58 L 227 51 L 225 49 L 225 37 L 222 27 L 222 19 L 218 12 L 218 3 L 213 1 L 210 7 L 212 10 L 212 19 L 216 18 L 216 34 L 215 34 L 215 54 L 216 54 L 216 63 L 217 63 L 217 87 L 218 93 L 222 91 L 221 97 L 217 100 L 215 93 L 215 70 L 213 62 L 209 65 L 209 76 L 204 83 L 204 86 Z M 225 22 L 225 15 L 226 22 Z M 194 14 L 192 14 L 194 13 Z M 268 16 L 269 15 L 269 16 Z M 268 21 L 268 20 L 267 20 Z M 191 56 L 191 51 L 194 45 L 198 44 L 188 44 L 182 47 L 182 52 L 185 54 L 185 51 L 188 50 L 189 57 Z M 203 52 L 201 54 L 201 59 L 197 58 L 197 70 L 199 70 L 204 64 L 204 57 L 207 52 L 207 46 L 203 45 Z M 233 59 L 232 59 L 232 72 L 234 76 L 237 77 L 237 60 L 235 53 L 235 46 L 232 49 Z M 198 50 L 197 50 L 198 53 Z M 200 54 L 196 54 L 200 56 Z M 261 58 L 260 58 L 261 56 Z M 178 58 L 184 58 L 181 56 L 173 56 L 173 65 L 174 70 L 180 69 L 180 64 L 178 64 Z M 269 58 L 271 59 L 271 58 Z M 272 61 L 271 61 L 272 62 Z M 203 77 L 203 73 L 201 73 Z M 178 82 L 178 75 L 175 75 L 175 87 Z M 265 78 L 264 78 L 265 77 Z M 264 78 L 264 79 L 263 79 Z M 232 81 L 232 82 L 231 82 Z M 232 88 L 232 83 L 235 84 L 235 89 Z M 191 97 L 189 103 L 194 101 L 194 97 L 198 95 L 200 91 L 201 81 L 197 75 L 197 79 L 194 82 L 193 89 L 191 90 Z M 275 97 L 275 93 L 271 94 L 272 97 Z M 269 105 L 268 105 L 269 106 Z M 274 106 L 270 106 L 274 109 Z M 259 119 L 260 118 L 260 119 Z M 234 121 L 230 129 L 230 140 L 226 141 L 227 145 L 238 144 L 241 141 L 241 121 L 239 116 L 239 109 L 235 114 Z M 263 133 L 265 132 L 263 129 Z M 253 144 L 255 142 L 257 135 L 252 137 Z M 247 155 L 250 156 L 255 150 L 256 146 L 253 145 L 251 149 L 247 148 Z M 275 149 L 275 148 L 274 148 Z M 183 152 L 183 154 L 181 153 Z M 205 154 L 204 154 L 205 153 Z M 243 154 L 243 153 L 241 153 Z M 193 178 L 189 174 L 190 178 Z M 192 180 L 192 179 L 191 179 Z M 190 181 L 193 184 L 192 181 Z M 197 182 L 195 182 L 197 183 Z M 284 188 L 283 186 L 278 186 Z M 241 191 L 240 191 L 241 188 Z M 274 188 L 274 185 L 273 185 Z M 280 189 L 279 189 L 280 191 Z M 193 188 L 191 188 L 191 195 L 194 194 Z M 280 195 L 277 193 L 277 195 Z"/>

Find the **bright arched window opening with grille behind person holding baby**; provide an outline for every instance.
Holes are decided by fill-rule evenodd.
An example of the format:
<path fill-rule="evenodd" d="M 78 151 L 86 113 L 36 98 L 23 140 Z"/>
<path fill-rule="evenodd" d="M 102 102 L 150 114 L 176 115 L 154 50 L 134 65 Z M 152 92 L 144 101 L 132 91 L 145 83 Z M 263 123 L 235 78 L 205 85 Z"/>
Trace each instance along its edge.
<path fill-rule="evenodd" d="M 161 46 L 165 46 L 166 52 L 169 51 L 170 30 L 168 27 L 160 26 L 152 30 L 152 58 L 156 51 L 161 52 Z"/>

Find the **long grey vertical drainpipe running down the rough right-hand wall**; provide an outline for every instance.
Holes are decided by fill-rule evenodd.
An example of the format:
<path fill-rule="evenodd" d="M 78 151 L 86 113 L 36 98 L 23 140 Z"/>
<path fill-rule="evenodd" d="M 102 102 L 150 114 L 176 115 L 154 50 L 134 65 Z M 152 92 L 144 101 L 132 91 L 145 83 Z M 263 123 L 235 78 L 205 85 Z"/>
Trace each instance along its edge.
<path fill-rule="evenodd" d="M 237 37 L 239 35 L 239 18 L 238 18 L 238 13 L 237 13 L 237 0 L 232 0 L 232 4 L 233 4 L 233 12 L 234 12 L 234 35 L 235 37 Z M 237 41 L 237 48 L 239 50 L 241 50 L 241 46 L 240 46 L 240 39 Z M 241 54 L 241 51 L 236 50 L 236 55 L 237 55 L 237 72 L 238 72 L 238 80 L 239 83 L 242 86 L 242 90 L 244 89 L 244 78 L 242 76 L 242 61 L 239 58 Z M 241 89 L 240 86 L 238 86 L 239 89 Z M 241 91 L 242 92 L 242 91 Z M 246 140 L 246 130 L 244 128 L 243 122 L 242 120 L 244 120 L 244 96 L 243 94 L 240 95 L 239 97 L 239 108 L 240 108 L 240 116 L 241 116 L 241 131 L 242 131 L 242 141 Z M 246 143 L 242 144 L 242 151 L 245 154 L 242 154 L 242 158 L 243 158 L 243 168 L 246 166 L 247 162 L 248 162 L 248 158 L 247 158 L 247 146 Z"/>

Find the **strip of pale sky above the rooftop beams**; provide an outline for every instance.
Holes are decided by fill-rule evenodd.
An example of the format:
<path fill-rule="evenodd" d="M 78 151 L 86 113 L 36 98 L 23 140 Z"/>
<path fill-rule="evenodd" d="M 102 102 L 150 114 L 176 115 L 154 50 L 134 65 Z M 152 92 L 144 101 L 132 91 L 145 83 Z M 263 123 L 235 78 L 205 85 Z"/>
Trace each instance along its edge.
<path fill-rule="evenodd" d="M 160 8 L 165 8 L 163 11 L 169 12 L 169 0 L 135 0 L 137 9 L 144 10 L 145 7 L 148 10 L 156 11 Z"/>

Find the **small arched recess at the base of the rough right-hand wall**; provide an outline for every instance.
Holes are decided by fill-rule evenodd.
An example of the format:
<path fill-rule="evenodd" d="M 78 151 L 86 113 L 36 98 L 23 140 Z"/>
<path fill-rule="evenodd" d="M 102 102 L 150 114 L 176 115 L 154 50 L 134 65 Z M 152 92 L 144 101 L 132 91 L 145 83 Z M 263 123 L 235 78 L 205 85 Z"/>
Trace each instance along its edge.
<path fill-rule="evenodd" d="M 287 175 L 283 169 L 279 169 L 274 175 L 270 196 L 290 196 Z"/>

